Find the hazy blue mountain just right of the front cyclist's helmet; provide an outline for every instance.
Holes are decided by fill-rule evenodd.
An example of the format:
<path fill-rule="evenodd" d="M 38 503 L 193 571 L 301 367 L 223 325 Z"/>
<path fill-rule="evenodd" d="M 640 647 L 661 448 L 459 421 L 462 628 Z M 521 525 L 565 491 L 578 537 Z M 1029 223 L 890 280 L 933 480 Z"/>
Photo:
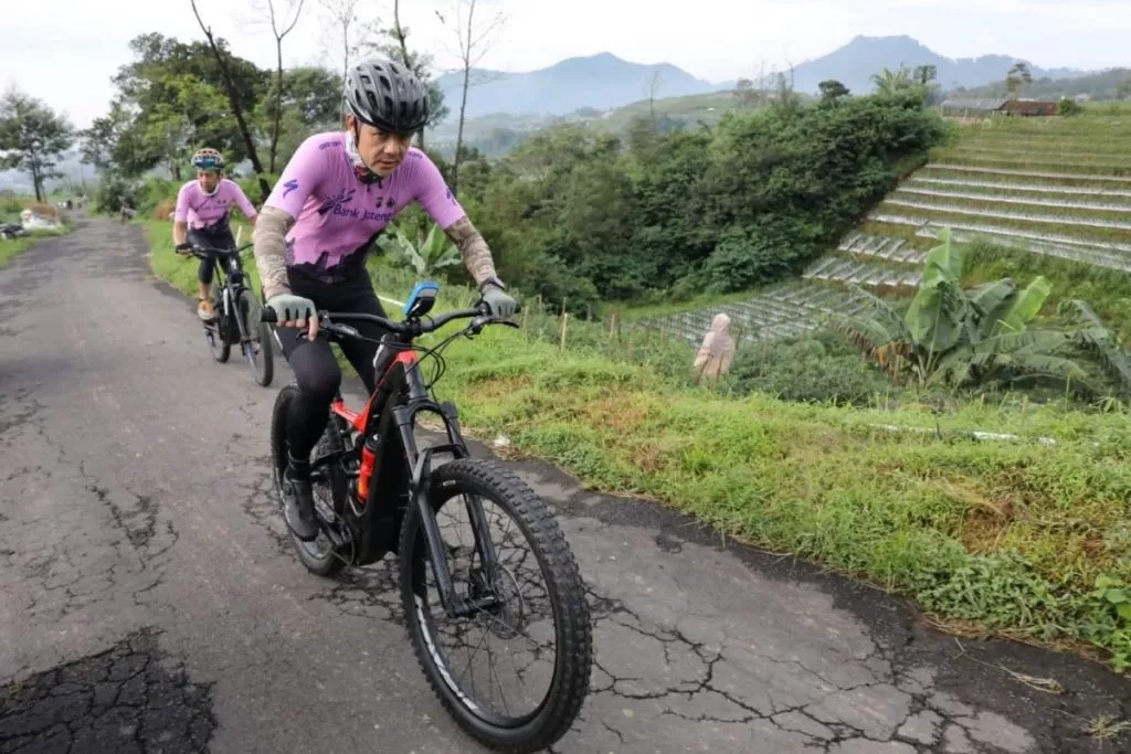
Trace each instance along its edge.
<path fill-rule="evenodd" d="M 564 115 L 581 107 L 620 107 L 647 99 L 656 75 L 656 98 L 706 94 L 720 88 L 668 63 L 632 63 L 603 52 L 569 58 L 525 73 L 473 70 L 467 118 L 491 113 Z M 484 83 L 477 84 L 477 80 Z M 451 120 L 455 120 L 459 114 L 464 72 L 444 73 L 437 83 L 443 92 L 444 104 L 451 109 Z"/>

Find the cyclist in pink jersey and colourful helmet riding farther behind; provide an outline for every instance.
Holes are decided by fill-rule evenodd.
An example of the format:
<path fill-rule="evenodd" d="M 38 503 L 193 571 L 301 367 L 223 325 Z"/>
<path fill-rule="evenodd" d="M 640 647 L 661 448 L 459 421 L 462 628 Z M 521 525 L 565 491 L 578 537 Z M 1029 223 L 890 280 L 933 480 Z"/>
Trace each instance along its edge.
<path fill-rule="evenodd" d="M 221 177 L 224 156 L 205 147 L 192 155 L 197 179 L 181 187 L 176 193 L 176 210 L 173 214 L 173 243 L 178 253 L 185 254 L 192 246 L 211 249 L 234 249 L 230 218 L 235 203 L 244 217 L 254 225 L 258 214 L 248 194 L 235 181 Z M 200 260 L 197 280 L 200 284 L 197 314 L 205 321 L 216 318 L 209 288 L 216 272 L 216 258 Z"/>

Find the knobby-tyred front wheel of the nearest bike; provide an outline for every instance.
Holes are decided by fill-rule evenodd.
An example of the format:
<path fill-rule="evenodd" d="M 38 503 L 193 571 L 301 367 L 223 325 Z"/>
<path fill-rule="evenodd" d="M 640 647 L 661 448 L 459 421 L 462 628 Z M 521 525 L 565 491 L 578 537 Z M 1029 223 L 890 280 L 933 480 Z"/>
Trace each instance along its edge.
<path fill-rule="evenodd" d="M 458 517 L 460 509 L 470 519 L 475 501 L 483 505 L 484 513 L 487 513 L 486 503 L 500 509 L 517 530 L 515 534 L 529 545 L 533 557 L 523 555 L 512 561 L 512 548 L 504 538 L 502 545 L 493 543 L 498 557 L 497 565 L 491 569 L 483 564 L 482 544 L 474 532 L 459 537 L 456 544 L 457 527 L 449 519 Z M 463 552 L 470 554 L 473 562 L 477 561 L 468 567 L 449 562 L 456 593 L 474 598 L 493 593 L 500 604 L 464 618 L 447 615 L 429 563 L 420 515 L 415 508 L 411 509 L 400 532 L 400 592 L 407 630 L 421 668 L 440 702 L 469 735 L 500 752 L 544 751 L 577 719 L 588 693 L 593 665 L 589 608 L 569 545 L 534 491 L 493 462 L 465 459 L 438 467 L 432 474 L 430 502 L 437 512 L 446 555 Z M 490 517 L 487 521 L 484 528 L 494 540 L 500 527 L 490 522 Z M 527 577 L 515 573 L 524 566 L 536 570 L 543 586 L 534 586 Z M 526 593 L 511 593 L 524 589 Z M 552 623 L 534 617 L 537 607 L 547 609 Z M 441 621 L 455 625 L 442 630 Z M 478 639 L 480 629 L 482 640 Z M 535 639 L 523 635 L 524 632 L 552 640 L 552 652 L 537 648 Z M 461 640 L 467 634 L 472 634 L 468 641 L 475 650 L 466 660 L 461 652 L 442 648 L 447 639 Z M 507 702 L 502 671 L 492 675 L 489 669 L 485 684 L 476 684 L 474 679 L 467 683 L 467 670 L 473 669 L 476 657 L 493 661 L 491 644 L 486 644 L 486 658 L 478 655 L 492 639 L 500 640 L 502 670 L 509 676 L 509 670 L 513 669 L 521 695 L 529 702 L 528 710 L 515 711 Z M 532 670 L 534 661 L 545 658 L 552 658 L 547 668 Z M 503 692 L 502 710 L 494 704 L 494 683 Z M 532 692 L 530 685 L 545 686 L 545 691 Z M 487 700 L 481 699 L 485 692 Z"/>

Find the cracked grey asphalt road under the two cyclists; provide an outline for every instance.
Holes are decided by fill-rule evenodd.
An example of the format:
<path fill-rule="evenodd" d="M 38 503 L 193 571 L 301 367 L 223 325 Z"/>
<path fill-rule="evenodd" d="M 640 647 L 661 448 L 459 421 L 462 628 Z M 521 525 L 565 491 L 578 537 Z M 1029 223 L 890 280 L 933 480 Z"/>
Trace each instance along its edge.
<path fill-rule="evenodd" d="M 0 752 L 484 751 L 415 664 L 395 564 L 327 581 L 292 554 L 267 463 L 285 363 L 266 390 L 214 363 L 146 254 L 139 229 L 83 219 L 0 269 Z M 1131 751 L 1131 681 L 1098 665 L 959 643 L 515 466 L 594 609 L 592 693 L 554 752 Z"/>

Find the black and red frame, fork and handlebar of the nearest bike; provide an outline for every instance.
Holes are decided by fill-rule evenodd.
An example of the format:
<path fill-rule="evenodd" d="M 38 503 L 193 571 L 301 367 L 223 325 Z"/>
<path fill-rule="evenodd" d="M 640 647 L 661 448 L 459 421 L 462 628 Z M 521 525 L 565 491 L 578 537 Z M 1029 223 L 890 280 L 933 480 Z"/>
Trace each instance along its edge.
<path fill-rule="evenodd" d="M 430 309 L 428 306 L 426 309 Z M 425 309 L 425 311 L 426 311 Z M 270 309 L 262 310 L 266 322 L 275 321 Z M 468 599 L 457 595 L 451 580 L 451 571 L 444 556 L 446 547 L 431 504 L 431 480 L 433 456 L 450 453 L 456 459 L 469 458 L 470 452 L 459 426 L 459 415 L 455 404 L 434 400 L 421 375 L 417 354 L 412 348 L 415 338 L 432 332 L 457 319 L 473 319 L 464 332 L 478 333 L 487 324 L 515 323 L 491 317 L 483 306 L 458 310 L 442 314 L 425 324 L 420 312 L 413 312 L 404 321 L 389 320 L 373 314 L 349 312 L 319 312 L 320 330 L 337 339 L 362 337 L 356 329 L 335 320 L 366 321 L 388 330 L 373 358 L 377 387 L 366 399 L 361 411 L 346 406 L 340 392 L 330 404 L 333 414 L 339 416 L 347 428 L 343 440 L 347 448 L 336 453 L 311 459 L 311 469 L 336 462 L 343 457 L 360 459 L 366 437 L 378 439 L 377 459 L 368 479 L 369 494 L 359 508 L 355 485 L 349 485 L 344 506 L 344 521 L 322 520 L 330 540 L 339 552 L 353 553 L 352 565 L 366 565 L 398 549 L 398 539 L 404 518 L 415 510 L 428 541 L 429 560 L 435 575 L 444 612 L 454 617 L 466 617 L 473 612 L 489 609 L 497 605 L 495 598 L 486 595 Z M 447 442 L 417 448 L 414 428 L 416 417 L 422 413 L 440 417 L 447 434 Z M 348 441 L 357 433 L 354 442 Z M 357 482 L 361 482 L 360 479 Z M 467 513 L 475 530 L 475 547 L 481 567 L 493 569 L 497 554 L 491 541 L 490 529 L 477 496 L 465 495 Z M 319 518 L 322 518 L 319 511 Z"/>

